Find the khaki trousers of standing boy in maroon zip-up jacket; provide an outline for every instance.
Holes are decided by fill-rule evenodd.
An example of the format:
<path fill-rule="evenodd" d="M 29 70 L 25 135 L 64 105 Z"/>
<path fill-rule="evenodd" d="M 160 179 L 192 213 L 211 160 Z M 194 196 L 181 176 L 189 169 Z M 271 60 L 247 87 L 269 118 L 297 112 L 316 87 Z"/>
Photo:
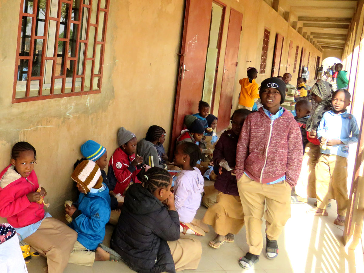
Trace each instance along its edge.
<path fill-rule="evenodd" d="M 243 174 L 237 183 L 244 212 L 246 243 L 250 253 L 260 255 L 263 249 L 263 214 L 267 238 L 277 240 L 291 216 L 291 187 L 286 181 L 270 185 L 261 184 L 251 180 L 246 174 Z"/>

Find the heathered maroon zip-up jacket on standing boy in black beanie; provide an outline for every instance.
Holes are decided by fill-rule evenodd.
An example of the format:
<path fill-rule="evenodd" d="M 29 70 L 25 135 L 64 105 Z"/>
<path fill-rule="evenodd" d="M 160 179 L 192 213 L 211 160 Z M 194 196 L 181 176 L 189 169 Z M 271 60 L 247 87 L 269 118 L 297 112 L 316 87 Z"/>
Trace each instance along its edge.
<path fill-rule="evenodd" d="M 284 109 L 278 119 L 260 108 L 250 114 L 241 128 L 236 152 L 236 175 L 244 172 L 263 184 L 282 176 L 296 185 L 302 164 L 302 138 L 293 115 Z"/>

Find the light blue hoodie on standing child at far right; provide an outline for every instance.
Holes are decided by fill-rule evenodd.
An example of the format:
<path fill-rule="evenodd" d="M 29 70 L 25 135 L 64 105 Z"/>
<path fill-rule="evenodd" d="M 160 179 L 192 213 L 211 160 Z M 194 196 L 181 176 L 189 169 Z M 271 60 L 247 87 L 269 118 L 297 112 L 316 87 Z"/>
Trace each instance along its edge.
<path fill-rule="evenodd" d="M 358 142 L 359 128 L 352 114 L 347 111 L 335 114 L 331 110 L 324 113 L 317 128 L 317 137 L 325 137 L 327 140 L 340 139 L 344 143 L 331 146 L 331 149 L 321 149 L 321 153 L 348 157 L 349 144 Z"/>

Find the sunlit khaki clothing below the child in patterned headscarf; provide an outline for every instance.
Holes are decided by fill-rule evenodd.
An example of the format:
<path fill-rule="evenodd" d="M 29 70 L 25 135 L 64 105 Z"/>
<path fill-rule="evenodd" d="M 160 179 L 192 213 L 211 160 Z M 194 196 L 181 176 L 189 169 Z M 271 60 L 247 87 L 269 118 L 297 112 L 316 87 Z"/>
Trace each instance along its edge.
<path fill-rule="evenodd" d="M 315 166 L 319 156 L 320 147 L 308 142 L 305 147 L 305 154 L 302 157 L 300 177 L 297 185 L 294 186 L 294 192 L 302 198 L 316 197 Z"/>

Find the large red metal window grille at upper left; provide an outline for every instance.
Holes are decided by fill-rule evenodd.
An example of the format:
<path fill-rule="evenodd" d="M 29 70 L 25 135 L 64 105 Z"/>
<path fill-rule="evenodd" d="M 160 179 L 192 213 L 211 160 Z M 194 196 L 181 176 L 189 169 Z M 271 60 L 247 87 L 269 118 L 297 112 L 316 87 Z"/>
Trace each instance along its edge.
<path fill-rule="evenodd" d="M 21 0 L 13 103 L 100 93 L 110 0 Z"/>

